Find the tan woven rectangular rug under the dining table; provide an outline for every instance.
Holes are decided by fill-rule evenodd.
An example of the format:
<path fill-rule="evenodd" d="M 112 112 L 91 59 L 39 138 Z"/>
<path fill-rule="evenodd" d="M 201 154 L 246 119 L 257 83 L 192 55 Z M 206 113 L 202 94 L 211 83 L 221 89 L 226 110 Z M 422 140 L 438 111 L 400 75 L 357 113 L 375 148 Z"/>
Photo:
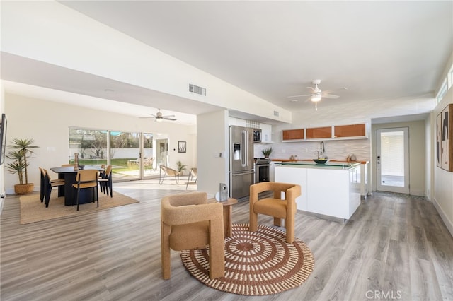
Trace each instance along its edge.
<path fill-rule="evenodd" d="M 19 201 L 21 202 L 21 225 L 54 218 L 81 216 L 107 208 L 139 203 L 136 199 L 119 194 L 116 191 L 113 191 L 113 197 L 100 193 L 99 207 L 97 203 L 84 203 L 79 206 L 79 211 L 77 211 L 76 206 L 64 206 L 64 196 L 58 197 L 56 194 L 50 197 L 49 207 L 47 208 L 44 203 L 41 203 L 40 194 L 21 196 Z"/>

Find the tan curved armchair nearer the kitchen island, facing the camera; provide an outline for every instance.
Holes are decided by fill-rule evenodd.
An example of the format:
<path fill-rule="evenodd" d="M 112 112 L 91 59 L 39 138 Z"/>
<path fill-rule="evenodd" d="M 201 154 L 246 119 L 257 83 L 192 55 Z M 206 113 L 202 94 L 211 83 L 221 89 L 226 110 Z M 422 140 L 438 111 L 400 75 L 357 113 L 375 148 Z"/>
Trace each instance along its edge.
<path fill-rule="evenodd" d="M 258 194 L 273 191 L 273 198 L 258 199 Z M 285 199 L 282 199 L 282 192 Z M 274 217 L 274 225 L 281 226 L 285 219 L 286 242 L 294 242 L 294 218 L 296 216 L 296 198 L 301 194 L 297 184 L 279 182 L 260 182 L 250 187 L 250 226 L 249 230 L 258 230 L 258 213 Z"/>

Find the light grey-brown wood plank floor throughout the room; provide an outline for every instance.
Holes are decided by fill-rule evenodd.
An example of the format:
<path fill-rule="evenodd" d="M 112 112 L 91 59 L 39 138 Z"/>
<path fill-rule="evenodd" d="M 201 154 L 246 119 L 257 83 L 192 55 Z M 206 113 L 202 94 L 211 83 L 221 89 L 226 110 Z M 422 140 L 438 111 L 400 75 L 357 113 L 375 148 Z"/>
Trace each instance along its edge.
<path fill-rule="evenodd" d="M 453 300 L 453 238 L 420 198 L 374 193 L 345 224 L 298 213 L 296 236 L 314 253 L 313 273 L 285 293 L 244 297 L 202 285 L 178 252 L 162 280 L 160 199 L 185 185 L 122 182 L 114 191 L 140 203 L 28 225 L 19 225 L 18 198 L 7 196 L 0 299 Z M 233 206 L 233 222 L 248 223 L 248 201 Z"/>

